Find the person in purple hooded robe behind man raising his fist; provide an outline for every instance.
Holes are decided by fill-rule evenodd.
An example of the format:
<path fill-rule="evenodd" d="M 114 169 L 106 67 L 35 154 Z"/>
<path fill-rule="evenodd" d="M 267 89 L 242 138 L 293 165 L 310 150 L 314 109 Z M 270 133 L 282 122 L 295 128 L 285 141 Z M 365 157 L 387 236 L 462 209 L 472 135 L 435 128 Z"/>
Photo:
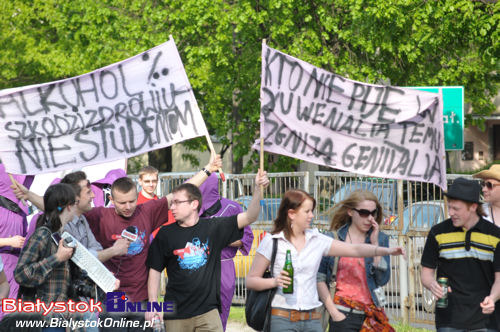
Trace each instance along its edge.
<path fill-rule="evenodd" d="M 202 196 L 200 217 L 202 218 L 228 217 L 243 212 L 243 208 L 238 202 L 220 196 L 219 180 L 215 173 L 212 173 L 200 186 L 200 191 Z M 233 257 L 236 256 L 238 249 L 243 255 L 248 256 L 252 242 L 252 229 L 250 226 L 246 226 L 241 240 L 231 243 L 221 252 L 220 297 L 222 312 L 220 313 L 220 318 L 224 331 L 226 330 L 227 318 L 229 317 L 229 310 L 231 309 L 234 289 L 236 287 Z"/>

